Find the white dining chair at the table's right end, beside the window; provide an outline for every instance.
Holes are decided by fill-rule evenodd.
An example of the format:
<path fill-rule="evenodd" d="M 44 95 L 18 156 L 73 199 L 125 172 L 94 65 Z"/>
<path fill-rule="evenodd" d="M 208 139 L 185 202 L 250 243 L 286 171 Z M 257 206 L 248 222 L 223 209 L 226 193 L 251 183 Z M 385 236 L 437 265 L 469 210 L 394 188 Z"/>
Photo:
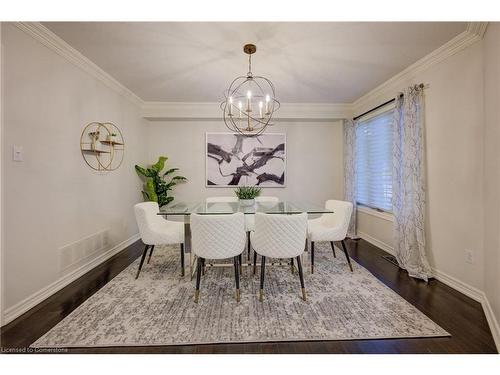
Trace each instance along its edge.
<path fill-rule="evenodd" d="M 328 200 L 325 203 L 327 210 L 333 211 L 332 214 L 323 214 L 317 219 L 311 219 L 308 222 L 307 237 L 311 242 L 311 273 L 314 273 L 314 242 L 329 241 L 335 257 L 335 241 L 340 241 L 342 249 L 352 271 L 351 259 L 345 246 L 345 237 L 349 229 L 349 222 L 352 215 L 352 203 L 336 200 Z"/>

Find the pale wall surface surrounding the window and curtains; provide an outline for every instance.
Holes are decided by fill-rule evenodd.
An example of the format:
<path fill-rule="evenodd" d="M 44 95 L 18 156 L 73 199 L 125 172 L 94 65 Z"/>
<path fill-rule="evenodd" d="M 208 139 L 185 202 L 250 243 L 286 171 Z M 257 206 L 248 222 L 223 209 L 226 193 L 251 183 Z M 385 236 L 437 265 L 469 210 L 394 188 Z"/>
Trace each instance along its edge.
<path fill-rule="evenodd" d="M 356 113 L 378 105 L 405 86 L 423 82 L 427 154 L 427 252 L 439 271 L 483 287 L 483 62 L 476 42 L 374 97 Z M 358 229 L 392 247 L 392 223 L 361 213 Z M 465 263 L 464 250 L 475 253 Z"/>

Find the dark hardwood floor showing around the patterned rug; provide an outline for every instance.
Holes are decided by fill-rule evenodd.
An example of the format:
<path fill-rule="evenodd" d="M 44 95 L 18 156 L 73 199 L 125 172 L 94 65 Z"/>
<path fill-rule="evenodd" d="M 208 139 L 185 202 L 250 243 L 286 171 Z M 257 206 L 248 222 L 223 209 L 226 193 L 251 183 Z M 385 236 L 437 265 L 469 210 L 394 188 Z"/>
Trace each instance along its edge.
<path fill-rule="evenodd" d="M 370 243 L 348 241 L 354 260 L 452 336 L 351 341 L 301 341 L 149 347 L 71 348 L 68 353 L 497 353 L 481 304 L 445 284 L 408 277 Z M 28 347 L 119 274 L 142 252 L 131 245 L 1 329 L 1 346 Z"/>

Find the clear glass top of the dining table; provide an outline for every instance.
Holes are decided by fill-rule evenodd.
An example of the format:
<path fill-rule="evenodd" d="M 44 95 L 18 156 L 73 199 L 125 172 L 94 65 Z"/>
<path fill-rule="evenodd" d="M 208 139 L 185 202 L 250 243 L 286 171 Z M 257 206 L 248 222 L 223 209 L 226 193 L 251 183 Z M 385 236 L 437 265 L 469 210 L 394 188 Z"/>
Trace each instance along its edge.
<path fill-rule="evenodd" d="M 282 201 L 278 203 L 255 202 L 251 206 L 241 205 L 239 202 L 174 202 L 160 208 L 158 215 L 224 215 L 242 212 L 244 214 L 255 214 L 263 212 L 266 214 L 308 214 L 333 213 L 324 206 L 310 202 Z"/>

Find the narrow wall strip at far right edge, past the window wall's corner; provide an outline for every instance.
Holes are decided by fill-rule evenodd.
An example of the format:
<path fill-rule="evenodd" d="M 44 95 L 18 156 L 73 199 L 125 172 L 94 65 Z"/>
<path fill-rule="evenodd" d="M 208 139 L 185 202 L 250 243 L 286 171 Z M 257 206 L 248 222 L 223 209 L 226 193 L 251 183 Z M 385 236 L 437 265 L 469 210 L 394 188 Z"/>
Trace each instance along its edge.
<path fill-rule="evenodd" d="M 500 24 L 484 38 L 484 291 L 500 322 Z M 498 330 L 498 327 L 497 327 Z M 500 333 L 500 331 L 497 331 Z M 497 337 L 500 340 L 500 337 Z"/>

